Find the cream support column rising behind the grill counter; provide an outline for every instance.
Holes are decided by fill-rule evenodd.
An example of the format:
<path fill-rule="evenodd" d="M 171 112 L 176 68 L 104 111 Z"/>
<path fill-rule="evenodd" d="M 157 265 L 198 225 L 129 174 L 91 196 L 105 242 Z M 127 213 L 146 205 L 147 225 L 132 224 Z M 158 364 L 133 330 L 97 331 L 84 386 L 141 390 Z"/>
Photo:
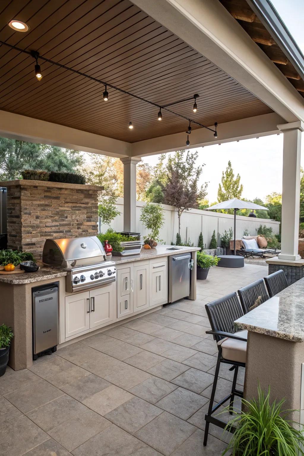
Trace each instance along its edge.
<path fill-rule="evenodd" d="M 126 157 L 124 163 L 124 231 L 136 232 L 136 165 L 141 158 Z"/>

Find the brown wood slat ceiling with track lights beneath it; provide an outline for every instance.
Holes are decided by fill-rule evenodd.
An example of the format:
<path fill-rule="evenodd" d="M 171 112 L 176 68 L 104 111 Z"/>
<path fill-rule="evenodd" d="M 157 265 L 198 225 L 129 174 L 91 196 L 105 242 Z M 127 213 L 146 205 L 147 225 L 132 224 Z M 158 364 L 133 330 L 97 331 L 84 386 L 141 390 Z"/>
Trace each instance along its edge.
<path fill-rule="evenodd" d="M 236 80 L 128 0 L 2 0 L 0 40 L 149 99 L 159 105 L 199 93 L 175 112 L 211 125 L 272 110 Z M 17 19 L 26 33 L 7 24 Z M 0 46 L 0 109 L 135 142 L 185 131 L 187 121 L 83 76 Z M 134 129 L 129 130 L 129 121 Z M 193 128 L 196 127 L 194 124 Z M 220 128 L 220 125 L 219 125 Z M 212 135 L 212 133 L 210 133 Z"/>

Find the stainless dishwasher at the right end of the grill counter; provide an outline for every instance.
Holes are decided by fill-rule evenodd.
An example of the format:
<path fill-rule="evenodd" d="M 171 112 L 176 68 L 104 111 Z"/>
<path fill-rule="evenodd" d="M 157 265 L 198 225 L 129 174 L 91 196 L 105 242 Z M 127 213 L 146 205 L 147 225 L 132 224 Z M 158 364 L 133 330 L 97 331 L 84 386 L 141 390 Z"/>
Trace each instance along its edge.
<path fill-rule="evenodd" d="M 168 302 L 174 302 L 190 295 L 190 271 L 193 260 L 191 254 L 178 254 L 168 257 L 169 286 Z"/>

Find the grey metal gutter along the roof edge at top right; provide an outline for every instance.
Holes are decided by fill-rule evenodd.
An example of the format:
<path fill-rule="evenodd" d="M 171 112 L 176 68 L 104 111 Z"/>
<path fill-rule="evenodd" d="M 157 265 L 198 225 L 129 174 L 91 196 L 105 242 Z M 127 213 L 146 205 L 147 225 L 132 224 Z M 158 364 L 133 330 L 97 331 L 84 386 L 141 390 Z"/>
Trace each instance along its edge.
<path fill-rule="evenodd" d="M 270 0 L 246 0 L 304 80 L 304 56 Z"/>

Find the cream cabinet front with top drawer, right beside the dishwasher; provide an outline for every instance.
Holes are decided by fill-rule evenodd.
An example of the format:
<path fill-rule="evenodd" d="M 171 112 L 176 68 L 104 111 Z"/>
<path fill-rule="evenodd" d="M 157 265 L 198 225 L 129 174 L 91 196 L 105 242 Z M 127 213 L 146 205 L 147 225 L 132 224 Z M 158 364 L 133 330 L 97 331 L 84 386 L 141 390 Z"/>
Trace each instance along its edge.
<path fill-rule="evenodd" d="M 149 306 L 168 302 L 167 263 L 150 263 L 149 265 Z"/>

